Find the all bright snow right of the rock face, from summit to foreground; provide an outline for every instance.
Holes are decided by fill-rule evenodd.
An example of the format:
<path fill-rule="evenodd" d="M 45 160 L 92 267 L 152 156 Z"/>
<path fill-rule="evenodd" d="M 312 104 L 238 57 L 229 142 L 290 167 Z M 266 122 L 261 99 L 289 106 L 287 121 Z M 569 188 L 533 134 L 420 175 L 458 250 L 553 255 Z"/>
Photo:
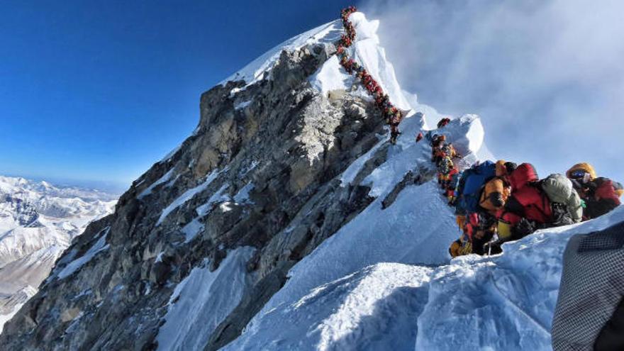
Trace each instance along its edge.
<path fill-rule="evenodd" d="M 568 238 L 624 221 L 624 208 L 597 221 L 542 230 L 506 244 L 497 257 L 449 262 L 447 247 L 459 233 L 435 181 L 408 184 L 382 209 L 407 172 L 431 171 L 430 147 L 415 144 L 413 136 L 445 116 L 395 84 L 374 35 L 377 23 L 361 13 L 351 18 L 360 38 L 354 45 L 357 61 L 379 77 L 398 106 L 411 103 L 425 119 L 407 118 L 386 162 L 360 182 L 371 186 L 369 195 L 376 200 L 296 264 L 286 285 L 224 349 L 550 350 Z M 311 77 L 311 84 L 323 93 L 357 87 L 335 57 Z M 436 133 L 447 135 L 464 155 L 462 166 L 494 160 L 477 116 L 455 119 Z M 380 146 L 342 174 L 343 184 L 353 181 Z"/>

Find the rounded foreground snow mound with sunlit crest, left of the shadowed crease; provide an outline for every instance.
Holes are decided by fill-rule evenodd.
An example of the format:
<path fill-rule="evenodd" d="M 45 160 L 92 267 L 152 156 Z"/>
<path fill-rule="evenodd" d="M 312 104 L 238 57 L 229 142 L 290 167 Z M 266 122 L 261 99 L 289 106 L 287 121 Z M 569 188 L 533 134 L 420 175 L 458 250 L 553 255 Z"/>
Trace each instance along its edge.
<path fill-rule="evenodd" d="M 225 350 L 413 350 L 432 272 L 366 267 L 267 311 Z"/>

